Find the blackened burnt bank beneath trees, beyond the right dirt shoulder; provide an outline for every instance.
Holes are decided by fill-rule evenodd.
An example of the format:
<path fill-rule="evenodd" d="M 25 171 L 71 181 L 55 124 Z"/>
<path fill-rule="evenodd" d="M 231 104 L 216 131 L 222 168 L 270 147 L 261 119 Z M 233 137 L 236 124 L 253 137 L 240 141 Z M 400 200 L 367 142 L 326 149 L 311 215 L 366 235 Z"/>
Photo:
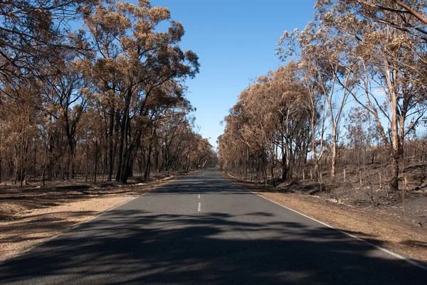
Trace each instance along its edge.
<path fill-rule="evenodd" d="M 343 170 L 346 168 L 346 181 Z M 392 217 L 408 227 L 427 227 L 427 163 L 412 164 L 403 169 L 400 175 L 399 191 L 389 190 L 387 177 L 379 176 L 381 166 L 366 168 L 340 167 L 337 176 L 331 181 L 330 173 L 323 173 L 325 183 L 310 179 L 278 185 L 278 189 L 294 193 L 312 195 L 327 203 L 357 208 L 367 213 L 379 213 Z M 381 179 L 381 183 L 380 183 Z"/>

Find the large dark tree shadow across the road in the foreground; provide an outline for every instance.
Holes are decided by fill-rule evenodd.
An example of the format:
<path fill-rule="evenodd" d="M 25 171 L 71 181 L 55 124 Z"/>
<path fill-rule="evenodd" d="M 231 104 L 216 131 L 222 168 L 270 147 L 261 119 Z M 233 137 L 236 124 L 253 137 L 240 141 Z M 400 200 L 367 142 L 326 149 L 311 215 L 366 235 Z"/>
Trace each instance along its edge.
<path fill-rule="evenodd" d="M 64 274 L 70 275 L 68 284 L 82 281 L 82 277 L 92 284 L 425 284 L 426 281 L 426 276 L 421 276 L 423 271 L 396 259 L 370 256 L 371 247 L 349 241 L 328 228 L 313 231 L 297 223 L 233 222 L 226 214 L 149 214 L 111 211 L 105 216 L 108 220 L 82 225 L 80 237 L 60 237 L 4 264 L 0 269 L 1 282 L 25 283 L 34 277 L 48 276 L 55 283 L 55 277 Z M 221 235 L 225 228 L 231 237 L 236 231 L 273 230 L 278 236 L 292 235 L 292 238 L 227 239 Z M 80 276 L 78 280 L 73 278 L 76 275 Z"/>

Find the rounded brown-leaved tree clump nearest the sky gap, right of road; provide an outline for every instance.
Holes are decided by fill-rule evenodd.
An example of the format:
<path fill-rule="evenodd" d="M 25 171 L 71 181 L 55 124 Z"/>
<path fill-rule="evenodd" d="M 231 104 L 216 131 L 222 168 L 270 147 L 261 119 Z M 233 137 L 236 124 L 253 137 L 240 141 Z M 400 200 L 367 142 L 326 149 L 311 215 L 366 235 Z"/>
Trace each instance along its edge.
<path fill-rule="evenodd" d="M 289 63 L 258 77 L 241 92 L 218 139 L 223 168 L 247 177 L 252 164 L 258 167 L 251 169 L 258 178 L 262 176 L 267 183 L 269 173 L 275 185 L 281 157 L 282 179 L 292 182 L 296 158 L 305 157 L 310 141 L 307 92 L 298 76 L 295 63 Z"/>

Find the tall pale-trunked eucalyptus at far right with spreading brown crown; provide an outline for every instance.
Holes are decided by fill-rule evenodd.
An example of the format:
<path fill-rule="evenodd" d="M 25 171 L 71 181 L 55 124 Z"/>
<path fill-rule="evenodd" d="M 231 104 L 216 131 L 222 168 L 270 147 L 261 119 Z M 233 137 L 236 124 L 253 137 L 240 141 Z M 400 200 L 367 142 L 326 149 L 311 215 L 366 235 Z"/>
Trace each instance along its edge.
<path fill-rule="evenodd" d="M 384 144 L 391 152 L 390 188 L 398 189 L 406 135 L 426 112 L 425 69 L 420 57 L 425 53 L 426 43 L 420 43 L 413 33 L 391 24 L 405 22 L 394 11 L 382 11 L 382 20 L 379 20 L 368 18 L 347 1 L 317 1 L 317 7 L 328 15 L 325 21 L 354 39 L 349 50 L 361 70 L 360 87 L 364 99 L 356 92 L 352 95 L 376 120 Z M 378 90 L 386 95 L 384 100 Z M 389 127 L 384 127 L 382 118 L 387 120 Z M 408 119 L 411 122 L 407 122 Z"/>

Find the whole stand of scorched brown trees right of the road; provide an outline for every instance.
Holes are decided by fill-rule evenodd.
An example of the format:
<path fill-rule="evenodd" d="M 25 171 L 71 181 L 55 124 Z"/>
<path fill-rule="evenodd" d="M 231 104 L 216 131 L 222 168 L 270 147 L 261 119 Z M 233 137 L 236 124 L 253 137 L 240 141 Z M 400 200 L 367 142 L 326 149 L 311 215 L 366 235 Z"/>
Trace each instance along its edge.
<path fill-rule="evenodd" d="M 427 186 L 427 1 L 318 0 L 285 31 L 277 70 L 241 91 L 218 137 L 223 170 L 378 205 Z"/>

